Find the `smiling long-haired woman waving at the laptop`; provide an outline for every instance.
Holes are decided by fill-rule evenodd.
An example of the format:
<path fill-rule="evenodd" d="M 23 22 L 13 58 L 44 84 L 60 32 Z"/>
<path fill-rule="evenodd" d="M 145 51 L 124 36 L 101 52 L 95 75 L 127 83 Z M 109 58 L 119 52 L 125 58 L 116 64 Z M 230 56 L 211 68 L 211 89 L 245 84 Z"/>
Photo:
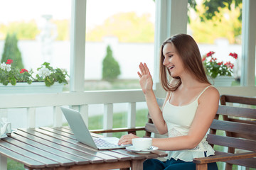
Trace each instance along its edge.
<path fill-rule="evenodd" d="M 214 154 L 206 141 L 206 132 L 219 101 L 218 90 L 210 85 L 204 72 L 198 45 L 186 34 L 174 35 L 161 45 L 160 79 L 167 91 L 162 111 L 156 102 L 148 67 L 140 63 L 139 69 L 139 84 L 151 119 L 161 134 L 169 134 L 168 138 L 154 138 L 152 145 L 170 151 L 166 162 L 147 159 L 144 169 L 196 169 L 193 158 Z M 137 136 L 122 136 L 119 145 L 132 144 L 134 137 Z M 212 163 L 208 169 L 218 168 Z"/>

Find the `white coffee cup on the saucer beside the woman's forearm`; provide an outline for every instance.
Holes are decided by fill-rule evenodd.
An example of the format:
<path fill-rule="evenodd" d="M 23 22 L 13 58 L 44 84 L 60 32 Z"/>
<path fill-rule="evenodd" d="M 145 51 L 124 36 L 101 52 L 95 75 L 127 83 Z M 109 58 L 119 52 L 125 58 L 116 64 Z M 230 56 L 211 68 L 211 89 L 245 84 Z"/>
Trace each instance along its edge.
<path fill-rule="evenodd" d="M 139 138 L 132 139 L 132 146 L 136 150 L 149 149 L 149 147 L 151 147 L 151 145 L 152 145 L 151 138 L 139 137 Z"/>

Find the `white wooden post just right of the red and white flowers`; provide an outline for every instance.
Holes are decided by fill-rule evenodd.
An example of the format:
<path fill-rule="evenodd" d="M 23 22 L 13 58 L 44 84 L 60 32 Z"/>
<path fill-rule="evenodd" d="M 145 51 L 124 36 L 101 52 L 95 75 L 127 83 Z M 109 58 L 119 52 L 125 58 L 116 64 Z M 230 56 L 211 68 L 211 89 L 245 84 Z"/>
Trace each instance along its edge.
<path fill-rule="evenodd" d="M 84 91 L 86 0 L 73 0 L 70 24 L 70 91 Z"/>

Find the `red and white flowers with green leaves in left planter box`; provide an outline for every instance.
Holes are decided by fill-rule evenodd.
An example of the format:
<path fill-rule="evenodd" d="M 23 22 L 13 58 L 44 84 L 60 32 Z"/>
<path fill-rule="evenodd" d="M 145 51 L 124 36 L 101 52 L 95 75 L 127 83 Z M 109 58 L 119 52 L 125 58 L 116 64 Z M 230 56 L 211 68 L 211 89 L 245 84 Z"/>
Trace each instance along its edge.
<path fill-rule="evenodd" d="M 27 69 L 18 70 L 18 68 L 11 66 L 12 62 L 13 60 L 7 60 L 6 63 L 3 62 L 0 64 L 0 84 L 3 84 L 4 86 L 15 86 L 14 89 L 18 90 L 17 93 L 19 93 L 19 91 L 26 91 L 24 86 L 27 86 L 28 84 L 38 86 L 36 91 L 34 91 L 35 93 L 38 93 L 39 91 L 47 92 L 45 90 L 47 89 L 49 91 L 49 89 L 53 89 L 53 85 L 60 86 L 62 91 L 63 85 L 68 84 L 66 79 L 68 73 L 64 69 L 54 69 L 48 62 L 43 63 L 41 67 L 36 69 L 36 73 L 33 72 L 32 69 L 30 72 L 28 72 Z M 36 76 L 33 76 L 33 74 L 36 74 Z M 43 89 L 39 84 L 43 84 Z M 28 86 L 27 91 L 31 91 L 31 86 Z M 4 90 L 2 90 L 2 92 L 4 92 Z M 60 92 L 60 90 L 58 90 L 58 92 Z"/>

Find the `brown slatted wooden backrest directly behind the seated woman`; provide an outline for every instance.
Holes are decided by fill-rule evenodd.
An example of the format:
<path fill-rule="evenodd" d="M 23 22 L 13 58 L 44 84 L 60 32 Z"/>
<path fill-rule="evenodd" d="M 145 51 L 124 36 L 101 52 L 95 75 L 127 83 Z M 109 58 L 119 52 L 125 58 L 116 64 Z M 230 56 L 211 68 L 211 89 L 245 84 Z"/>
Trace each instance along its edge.
<path fill-rule="evenodd" d="M 232 117 L 232 120 L 221 120 L 220 115 Z M 247 120 L 242 120 L 246 118 Z M 256 123 L 252 120 L 256 119 L 256 109 L 241 108 L 234 106 L 219 106 L 218 112 L 210 125 L 210 134 L 207 141 L 215 149 L 216 145 L 228 147 L 228 152 L 215 151 L 216 154 L 232 154 L 235 149 L 242 149 L 243 152 L 256 152 Z M 223 134 L 218 133 L 223 130 Z M 232 152 L 230 152 L 232 151 Z M 225 169 L 232 169 L 233 164 L 256 168 L 256 158 L 236 159 L 227 161 Z"/>

